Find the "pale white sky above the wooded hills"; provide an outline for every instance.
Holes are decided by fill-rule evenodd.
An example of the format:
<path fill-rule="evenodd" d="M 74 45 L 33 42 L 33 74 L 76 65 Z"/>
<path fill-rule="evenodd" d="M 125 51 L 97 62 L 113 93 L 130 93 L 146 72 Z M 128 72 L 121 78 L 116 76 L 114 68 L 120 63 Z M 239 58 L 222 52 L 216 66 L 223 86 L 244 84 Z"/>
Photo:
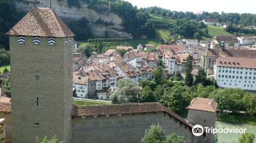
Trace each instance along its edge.
<path fill-rule="evenodd" d="M 124 0 L 138 8 L 161 7 L 175 11 L 189 12 L 219 12 L 252 13 L 256 14 L 256 0 Z"/>

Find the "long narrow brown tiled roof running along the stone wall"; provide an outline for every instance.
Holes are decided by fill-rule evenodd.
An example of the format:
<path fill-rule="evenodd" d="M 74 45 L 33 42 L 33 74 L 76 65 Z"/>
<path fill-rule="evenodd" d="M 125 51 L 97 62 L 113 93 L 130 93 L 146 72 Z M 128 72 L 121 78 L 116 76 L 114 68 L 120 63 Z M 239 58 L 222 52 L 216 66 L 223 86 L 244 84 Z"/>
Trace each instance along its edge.
<path fill-rule="evenodd" d="M 113 104 L 95 106 L 75 106 L 73 105 L 72 116 L 93 116 L 93 115 L 113 115 L 131 114 L 145 112 L 166 112 L 175 117 L 180 122 L 191 127 L 184 118 L 174 113 L 158 102 L 152 103 L 132 103 L 132 104 Z"/>

